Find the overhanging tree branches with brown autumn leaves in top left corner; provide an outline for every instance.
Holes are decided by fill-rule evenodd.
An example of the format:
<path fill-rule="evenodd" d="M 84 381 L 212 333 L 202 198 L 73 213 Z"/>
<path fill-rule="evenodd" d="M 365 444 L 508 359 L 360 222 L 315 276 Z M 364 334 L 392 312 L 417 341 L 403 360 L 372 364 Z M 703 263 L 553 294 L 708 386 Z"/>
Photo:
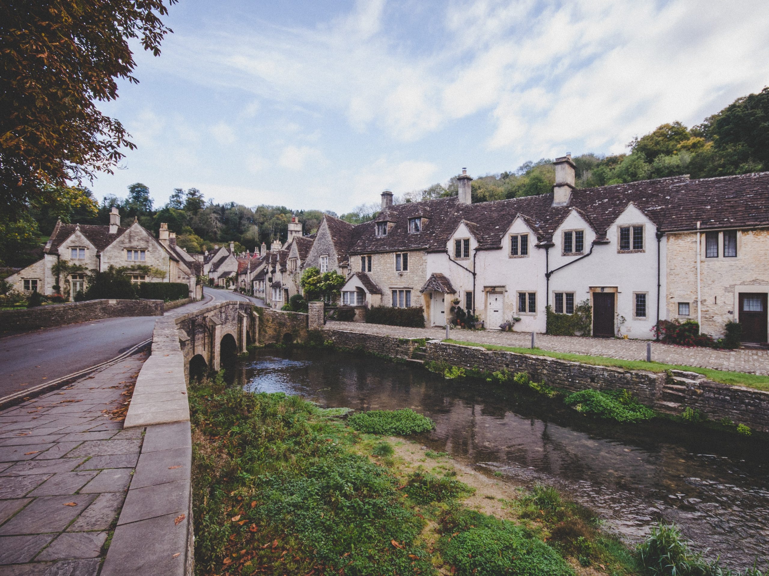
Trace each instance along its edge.
<path fill-rule="evenodd" d="M 46 185 L 112 173 L 135 147 L 95 102 L 137 82 L 130 41 L 160 54 L 167 14 L 164 0 L 0 2 L 0 212 L 15 220 Z"/>

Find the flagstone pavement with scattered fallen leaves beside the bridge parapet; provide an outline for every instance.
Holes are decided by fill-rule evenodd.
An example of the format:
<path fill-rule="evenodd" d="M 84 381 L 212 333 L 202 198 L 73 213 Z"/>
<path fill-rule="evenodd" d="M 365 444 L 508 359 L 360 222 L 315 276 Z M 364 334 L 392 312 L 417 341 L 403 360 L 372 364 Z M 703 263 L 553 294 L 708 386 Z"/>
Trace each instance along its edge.
<path fill-rule="evenodd" d="M 113 411 L 145 359 L 0 412 L 0 576 L 98 574 L 144 434 Z"/>

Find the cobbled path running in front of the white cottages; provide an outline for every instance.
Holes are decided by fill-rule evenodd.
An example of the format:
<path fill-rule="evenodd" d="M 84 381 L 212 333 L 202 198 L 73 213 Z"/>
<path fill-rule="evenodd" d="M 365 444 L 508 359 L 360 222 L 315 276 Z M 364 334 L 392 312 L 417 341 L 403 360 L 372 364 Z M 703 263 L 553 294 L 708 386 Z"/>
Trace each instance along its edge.
<path fill-rule="evenodd" d="M 328 322 L 326 328 L 396 336 L 398 338 L 444 339 L 443 328 L 401 328 L 381 324 L 355 322 Z M 451 338 L 479 344 L 499 346 L 531 346 L 531 333 L 500 332 L 498 330 L 451 330 Z M 536 345 L 544 350 L 608 356 L 625 360 L 645 360 L 648 340 L 623 340 L 583 338 L 581 336 L 548 336 L 537 334 Z M 651 358 L 656 362 L 699 366 L 717 370 L 733 370 L 752 374 L 769 375 L 769 350 L 737 349 L 714 350 L 711 348 L 687 348 L 651 343 Z"/>

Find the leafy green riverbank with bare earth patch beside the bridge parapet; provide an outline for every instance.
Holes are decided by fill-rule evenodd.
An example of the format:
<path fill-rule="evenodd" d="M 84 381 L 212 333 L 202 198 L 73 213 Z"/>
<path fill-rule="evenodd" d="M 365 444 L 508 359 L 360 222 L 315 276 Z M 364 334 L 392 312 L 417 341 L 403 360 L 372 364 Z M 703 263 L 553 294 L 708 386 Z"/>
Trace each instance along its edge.
<path fill-rule="evenodd" d="M 191 386 L 197 574 L 636 574 L 551 488 L 518 492 L 309 402 Z"/>

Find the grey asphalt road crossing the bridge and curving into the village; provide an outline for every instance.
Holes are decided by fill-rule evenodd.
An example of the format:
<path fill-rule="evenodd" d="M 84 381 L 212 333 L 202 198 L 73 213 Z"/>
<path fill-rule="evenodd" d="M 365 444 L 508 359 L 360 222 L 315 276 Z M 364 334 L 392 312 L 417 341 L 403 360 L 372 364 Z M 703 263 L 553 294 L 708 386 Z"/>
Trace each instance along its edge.
<path fill-rule="evenodd" d="M 203 300 L 169 310 L 168 316 L 224 300 L 257 303 L 240 294 L 205 288 Z M 0 338 L 0 398 L 115 358 L 151 338 L 156 317 L 108 318 Z"/>

